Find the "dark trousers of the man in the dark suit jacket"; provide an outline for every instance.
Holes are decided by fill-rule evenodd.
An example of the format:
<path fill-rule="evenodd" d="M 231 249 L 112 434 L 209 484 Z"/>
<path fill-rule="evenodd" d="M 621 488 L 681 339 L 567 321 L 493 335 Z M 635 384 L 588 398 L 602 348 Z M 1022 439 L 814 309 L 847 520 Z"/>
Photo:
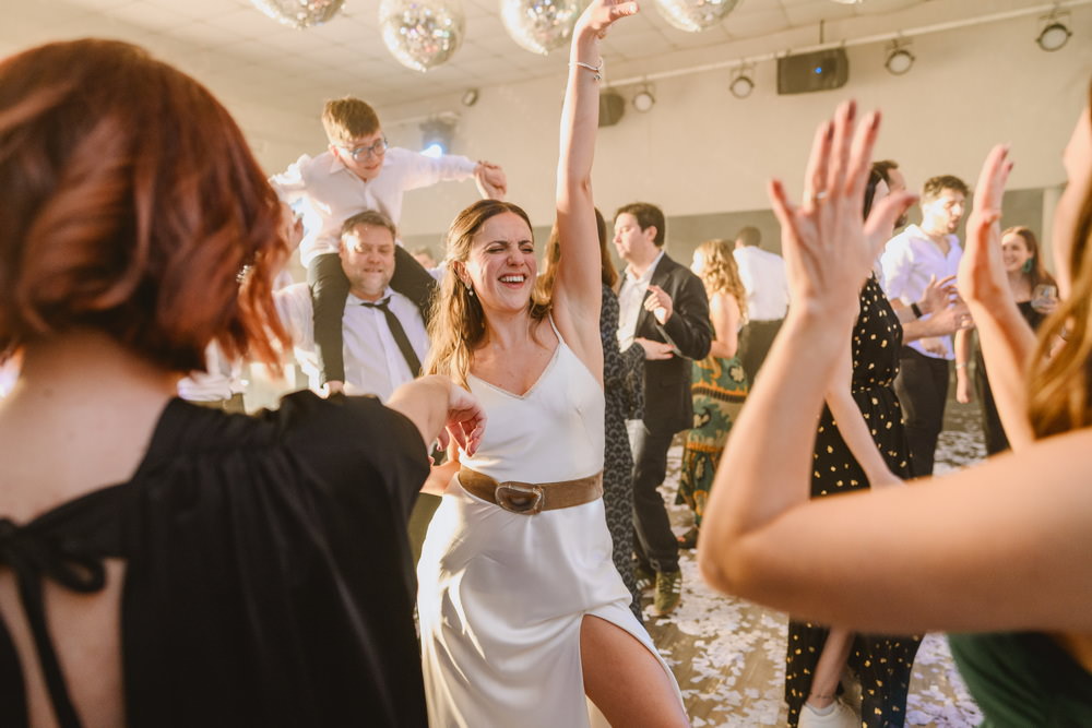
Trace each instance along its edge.
<path fill-rule="evenodd" d="M 667 475 L 667 450 L 674 432 L 630 428 L 633 449 L 633 549 L 638 561 L 657 572 L 678 571 L 679 545 L 672 533 L 664 499 L 656 488 Z"/>

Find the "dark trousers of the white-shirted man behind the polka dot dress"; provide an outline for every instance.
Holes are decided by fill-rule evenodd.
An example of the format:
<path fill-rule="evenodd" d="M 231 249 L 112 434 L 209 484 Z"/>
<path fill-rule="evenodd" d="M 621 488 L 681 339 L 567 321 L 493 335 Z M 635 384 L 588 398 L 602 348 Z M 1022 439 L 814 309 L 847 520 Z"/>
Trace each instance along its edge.
<path fill-rule="evenodd" d="M 933 475 L 937 438 L 945 425 L 948 360 L 902 347 L 894 392 L 902 405 L 902 421 L 910 444 L 910 472 L 915 478 Z"/>

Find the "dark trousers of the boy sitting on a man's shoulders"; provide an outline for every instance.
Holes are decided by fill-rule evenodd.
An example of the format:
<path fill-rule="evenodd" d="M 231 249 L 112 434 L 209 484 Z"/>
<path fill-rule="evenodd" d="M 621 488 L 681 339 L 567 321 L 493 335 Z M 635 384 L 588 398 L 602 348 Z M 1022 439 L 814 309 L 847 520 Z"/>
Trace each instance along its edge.
<path fill-rule="evenodd" d="M 311 287 L 313 309 L 314 354 L 318 358 L 319 383 L 345 381 L 342 341 L 342 318 L 348 296 L 348 278 L 337 253 L 316 255 L 307 266 L 307 284 Z M 431 317 L 436 281 L 402 246 L 394 246 L 394 275 L 391 288 L 420 309 L 425 324 Z"/>

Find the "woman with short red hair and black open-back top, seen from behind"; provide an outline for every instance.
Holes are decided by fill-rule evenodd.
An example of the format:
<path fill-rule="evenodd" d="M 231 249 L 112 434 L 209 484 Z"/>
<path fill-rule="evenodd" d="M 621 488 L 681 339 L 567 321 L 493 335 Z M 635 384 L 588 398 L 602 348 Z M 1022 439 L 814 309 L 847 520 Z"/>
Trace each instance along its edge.
<path fill-rule="evenodd" d="M 174 398 L 212 342 L 277 360 L 287 248 L 227 111 L 140 48 L 0 62 L 0 725 L 426 725 L 405 525 L 470 395 Z"/>

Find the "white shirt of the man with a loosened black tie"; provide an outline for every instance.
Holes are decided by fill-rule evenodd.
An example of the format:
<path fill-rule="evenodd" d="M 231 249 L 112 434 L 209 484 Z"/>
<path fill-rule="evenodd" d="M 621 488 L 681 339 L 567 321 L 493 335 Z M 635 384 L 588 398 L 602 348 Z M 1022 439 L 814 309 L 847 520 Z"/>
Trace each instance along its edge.
<path fill-rule="evenodd" d="M 281 321 L 292 335 L 294 355 L 307 374 L 310 387 L 319 391 L 318 356 L 314 351 L 314 326 L 311 291 L 307 284 L 297 283 L 274 294 Z M 423 362 L 428 354 L 428 335 L 420 311 L 413 302 L 388 288 L 390 309 Z M 387 325 L 387 315 L 379 309 L 363 306 L 365 301 L 349 294 L 342 319 L 345 355 L 345 393 L 375 394 L 387 402 L 391 394 L 415 372 L 410 371 L 397 342 Z M 377 301 L 378 302 L 378 301 Z"/>

